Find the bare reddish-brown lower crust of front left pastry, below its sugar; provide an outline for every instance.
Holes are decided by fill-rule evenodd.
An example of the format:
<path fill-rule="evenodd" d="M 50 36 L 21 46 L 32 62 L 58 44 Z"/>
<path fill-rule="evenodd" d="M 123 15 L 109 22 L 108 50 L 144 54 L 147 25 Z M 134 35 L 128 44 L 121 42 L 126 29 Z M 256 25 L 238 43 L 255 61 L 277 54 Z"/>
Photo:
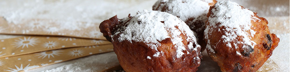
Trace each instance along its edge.
<path fill-rule="evenodd" d="M 115 37 L 117 38 L 117 37 Z M 194 57 L 198 56 L 195 51 L 189 54 L 184 54 L 182 58 L 173 60 L 176 48 L 173 47 L 171 40 L 162 40 L 162 46 L 158 48 L 158 51 L 164 52 L 164 56 L 151 57 L 147 59 L 147 56 L 153 56 L 155 51 L 148 47 L 143 42 L 123 41 L 113 43 L 114 51 L 117 54 L 120 65 L 127 72 L 194 72 L 197 71 L 197 67 L 200 60 L 194 60 Z M 200 48 L 199 48 L 200 50 Z M 186 53 L 186 51 L 183 51 Z"/>

